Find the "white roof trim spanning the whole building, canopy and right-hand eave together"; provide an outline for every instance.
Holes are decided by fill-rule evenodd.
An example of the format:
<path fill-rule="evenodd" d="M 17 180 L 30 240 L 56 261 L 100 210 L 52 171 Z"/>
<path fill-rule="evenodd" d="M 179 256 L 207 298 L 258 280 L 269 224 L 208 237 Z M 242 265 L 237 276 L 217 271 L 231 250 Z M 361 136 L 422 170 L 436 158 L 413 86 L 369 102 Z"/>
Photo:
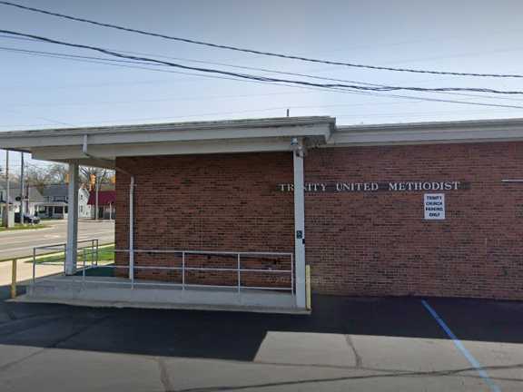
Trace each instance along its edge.
<path fill-rule="evenodd" d="M 523 141 L 523 119 L 335 126 L 333 117 L 283 117 L 0 132 L 0 148 L 35 159 L 112 167 L 117 157 L 291 151 L 307 147 Z M 87 147 L 87 152 L 83 147 Z"/>

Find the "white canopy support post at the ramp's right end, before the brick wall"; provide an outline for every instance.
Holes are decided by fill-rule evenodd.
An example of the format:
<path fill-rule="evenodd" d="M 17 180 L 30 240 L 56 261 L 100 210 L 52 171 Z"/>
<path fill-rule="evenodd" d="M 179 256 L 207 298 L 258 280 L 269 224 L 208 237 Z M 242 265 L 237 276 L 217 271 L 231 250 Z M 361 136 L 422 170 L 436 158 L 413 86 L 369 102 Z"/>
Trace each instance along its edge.
<path fill-rule="evenodd" d="M 296 145 L 294 142 L 297 142 Z M 303 175 L 303 146 L 293 141 L 294 167 L 294 262 L 296 271 L 296 306 L 306 307 L 305 293 L 305 191 Z"/>

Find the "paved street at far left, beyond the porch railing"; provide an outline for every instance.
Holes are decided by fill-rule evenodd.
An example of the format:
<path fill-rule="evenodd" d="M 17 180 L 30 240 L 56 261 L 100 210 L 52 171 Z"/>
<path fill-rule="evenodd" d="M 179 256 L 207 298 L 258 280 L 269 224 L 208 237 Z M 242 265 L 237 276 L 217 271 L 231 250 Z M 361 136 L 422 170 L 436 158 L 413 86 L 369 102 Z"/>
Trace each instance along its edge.
<path fill-rule="evenodd" d="M 37 230 L 0 232 L 0 260 L 29 256 L 35 246 L 64 243 L 67 240 L 67 220 L 44 220 L 50 226 Z M 100 244 L 114 241 L 114 222 L 109 220 L 79 220 L 78 240 L 98 239 Z"/>

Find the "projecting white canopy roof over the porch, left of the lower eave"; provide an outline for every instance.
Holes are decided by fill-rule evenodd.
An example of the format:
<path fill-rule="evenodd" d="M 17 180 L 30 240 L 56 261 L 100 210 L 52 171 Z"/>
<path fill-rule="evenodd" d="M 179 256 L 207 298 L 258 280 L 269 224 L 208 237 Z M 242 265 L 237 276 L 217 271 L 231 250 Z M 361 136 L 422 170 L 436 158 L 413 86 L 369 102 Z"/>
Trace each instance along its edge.
<path fill-rule="evenodd" d="M 293 138 L 323 144 L 334 128 L 332 117 L 283 117 L 19 131 L 0 133 L 0 148 L 38 160 L 112 167 L 123 156 L 291 151 Z"/>

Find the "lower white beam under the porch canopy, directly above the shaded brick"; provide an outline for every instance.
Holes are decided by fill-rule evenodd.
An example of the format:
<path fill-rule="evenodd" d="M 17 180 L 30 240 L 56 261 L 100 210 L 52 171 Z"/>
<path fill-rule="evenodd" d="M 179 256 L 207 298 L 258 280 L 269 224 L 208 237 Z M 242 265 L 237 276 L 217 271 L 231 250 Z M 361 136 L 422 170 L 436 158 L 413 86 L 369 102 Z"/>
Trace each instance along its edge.
<path fill-rule="evenodd" d="M 124 156 L 187 155 L 233 152 L 283 152 L 291 151 L 288 138 L 243 139 L 233 141 L 153 142 L 140 144 L 90 145 L 89 154 L 104 160 Z M 33 158 L 44 161 L 78 160 L 85 164 L 90 159 L 82 152 L 82 146 L 56 146 L 33 150 Z"/>

